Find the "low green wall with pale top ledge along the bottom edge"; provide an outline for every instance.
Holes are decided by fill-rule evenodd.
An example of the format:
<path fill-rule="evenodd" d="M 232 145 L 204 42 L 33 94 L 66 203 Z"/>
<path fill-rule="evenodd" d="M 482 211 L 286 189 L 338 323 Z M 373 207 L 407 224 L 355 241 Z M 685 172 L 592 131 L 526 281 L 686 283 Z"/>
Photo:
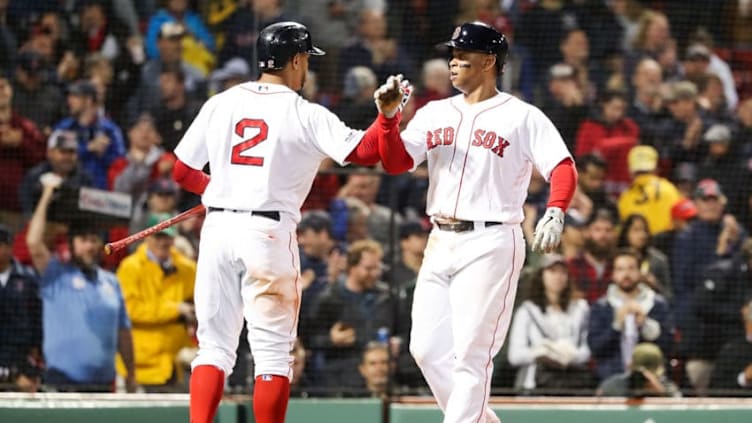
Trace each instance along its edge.
<path fill-rule="evenodd" d="M 187 423 L 187 398 L 173 401 L 0 399 L 0 423 Z M 752 403 L 725 400 L 627 405 L 567 403 L 566 400 L 532 404 L 494 404 L 504 423 L 737 423 L 752 422 Z M 252 423 L 248 401 L 224 401 L 215 423 Z M 441 412 L 431 404 L 393 403 L 379 400 L 293 399 L 287 423 L 439 423 Z"/>

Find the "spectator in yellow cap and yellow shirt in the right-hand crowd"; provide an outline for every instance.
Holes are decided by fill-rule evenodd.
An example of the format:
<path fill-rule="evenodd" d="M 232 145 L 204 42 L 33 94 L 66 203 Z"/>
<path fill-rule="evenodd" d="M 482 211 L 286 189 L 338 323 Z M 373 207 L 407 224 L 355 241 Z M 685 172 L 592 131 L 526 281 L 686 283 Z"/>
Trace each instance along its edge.
<path fill-rule="evenodd" d="M 621 221 L 631 214 L 641 214 L 647 219 L 652 235 L 670 230 L 671 207 L 681 199 L 681 194 L 669 180 L 655 174 L 658 152 L 649 145 L 632 147 L 627 165 L 632 184 L 619 197 Z"/>

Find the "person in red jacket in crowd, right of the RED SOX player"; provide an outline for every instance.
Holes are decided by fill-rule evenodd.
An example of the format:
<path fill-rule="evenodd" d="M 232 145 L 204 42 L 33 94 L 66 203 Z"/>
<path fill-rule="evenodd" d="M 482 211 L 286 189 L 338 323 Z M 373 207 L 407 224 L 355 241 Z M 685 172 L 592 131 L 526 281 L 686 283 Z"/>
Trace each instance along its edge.
<path fill-rule="evenodd" d="M 577 130 L 575 156 L 600 154 L 608 163 L 606 192 L 618 196 L 629 186 L 627 169 L 629 149 L 638 144 L 640 128 L 626 116 L 627 95 L 622 91 L 605 91 L 595 116 L 585 119 Z"/>

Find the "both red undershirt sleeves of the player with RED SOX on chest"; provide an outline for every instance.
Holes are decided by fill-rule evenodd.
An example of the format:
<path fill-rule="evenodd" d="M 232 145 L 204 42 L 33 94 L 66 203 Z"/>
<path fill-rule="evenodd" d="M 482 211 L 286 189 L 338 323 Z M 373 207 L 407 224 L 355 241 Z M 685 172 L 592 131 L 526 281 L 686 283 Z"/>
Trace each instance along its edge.
<path fill-rule="evenodd" d="M 405 149 L 399 133 L 399 114 L 391 119 L 379 114 L 374 125 L 380 125 L 379 155 L 384 170 L 391 174 L 403 173 L 413 168 L 413 159 Z M 373 125 L 371 126 L 373 127 Z M 548 207 L 566 210 L 577 187 L 577 170 L 571 158 L 562 160 L 551 171 L 551 192 Z"/>

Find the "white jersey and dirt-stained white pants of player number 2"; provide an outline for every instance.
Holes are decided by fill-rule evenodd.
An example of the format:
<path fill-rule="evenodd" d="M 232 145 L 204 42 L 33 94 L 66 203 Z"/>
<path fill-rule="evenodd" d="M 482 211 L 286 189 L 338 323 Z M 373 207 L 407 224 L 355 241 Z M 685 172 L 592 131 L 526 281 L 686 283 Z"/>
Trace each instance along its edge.
<path fill-rule="evenodd" d="M 193 368 L 210 365 L 229 375 L 245 317 L 256 376 L 292 378 L 302 291 L 300 206 L 321 160 L 344 164 L 362 136 L 282 85 L 244 83 L 201 108 L 175 154 L 194 169 L 209 162 L 204 205 L 281 216 L 207 214 L 196 268 Z"/>

